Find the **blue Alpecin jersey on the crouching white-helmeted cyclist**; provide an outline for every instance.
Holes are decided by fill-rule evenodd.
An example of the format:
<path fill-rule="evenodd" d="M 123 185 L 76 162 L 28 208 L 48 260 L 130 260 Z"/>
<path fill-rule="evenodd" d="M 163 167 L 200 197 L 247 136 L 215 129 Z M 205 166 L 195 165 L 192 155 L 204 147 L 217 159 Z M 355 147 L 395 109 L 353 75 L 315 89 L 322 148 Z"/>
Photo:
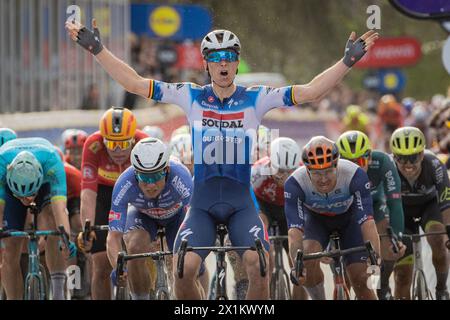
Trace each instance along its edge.
<path fill-rule="evenodd" d="M 192 195 L 192 177 L 189 170 L 178 161 L 170 160 L 169 176 L 158 198 L 148 199 L 139 188 L 135 170 L 129 167 L 114 185 L 109 229 L 125 232 L 128 205 L 152 219 L 167 220 L 184 214 Z"/>

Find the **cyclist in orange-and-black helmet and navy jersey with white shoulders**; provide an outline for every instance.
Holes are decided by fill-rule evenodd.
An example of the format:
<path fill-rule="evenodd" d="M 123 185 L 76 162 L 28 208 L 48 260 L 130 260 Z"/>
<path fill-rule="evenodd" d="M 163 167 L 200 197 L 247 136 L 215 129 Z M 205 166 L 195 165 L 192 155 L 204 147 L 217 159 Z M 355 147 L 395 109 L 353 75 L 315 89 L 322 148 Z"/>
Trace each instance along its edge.
<path fill-rule="evenodd" d="M 338 231 L 341 249 L 363 246 L 370 241 L 380 253 L 380 240 L 372 216 L 372 197 L 367 174 L 356 164 L 339 159 L 336 144 L 323 137 L 311 138 L 303 148 L 304 166 L 284 186 L 289 251 L 305 254 L 323 251 L 333 231 Z M 347 275 L 357 299 L 375 300 L 367 287 L 367 254 L 344 257 Z M 313 300 L 325 300 L 324 276 L 319 260 L 305 261 L 305 288 Z M 291 280 L 299 283 L 291 272 Z"/>

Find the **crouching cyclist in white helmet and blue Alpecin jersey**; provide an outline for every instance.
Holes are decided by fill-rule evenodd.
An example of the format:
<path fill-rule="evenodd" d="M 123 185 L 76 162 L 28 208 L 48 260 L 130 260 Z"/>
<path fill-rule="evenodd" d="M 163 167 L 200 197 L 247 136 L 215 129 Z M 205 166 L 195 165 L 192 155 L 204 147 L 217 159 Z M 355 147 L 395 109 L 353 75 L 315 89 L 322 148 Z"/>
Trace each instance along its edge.
<path fill-rule="evenodd" d="M 175 236 L 189 208 L 192 176 L 183 164 L 169 160 L 169 156 L 169 148 L 160 140 L 140 140 L 131 151 L 132 166 L 114 185 L 107 237 L 114 281 L 123 234 L 129 254 L 150 252 L 151 242 L 156 240 L 158 227 L 162 226 L 165 227 L 169 250 L 173 248 Z M 132 298 L 148 300 L 151 281 L 145 260 L 132 260 L 127 265 Z"/>

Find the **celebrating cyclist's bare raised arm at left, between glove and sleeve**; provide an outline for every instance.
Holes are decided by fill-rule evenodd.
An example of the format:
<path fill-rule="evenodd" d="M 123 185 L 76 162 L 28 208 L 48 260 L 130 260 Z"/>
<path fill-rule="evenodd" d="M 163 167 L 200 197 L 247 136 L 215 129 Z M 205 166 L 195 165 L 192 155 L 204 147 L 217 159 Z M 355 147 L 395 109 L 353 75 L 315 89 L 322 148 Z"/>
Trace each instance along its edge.
<path fill-rule="evenodd" d="M 105 71 L 116 80 L 125 90 L 141 94 L 139 90 L 139 83 L 144 80 L 137 72 L 131 68 L 124 61 L 117 58 L 111 51 L 104 48 L 99 54 L 95 56 L 100 65 Z M 145 92 L 147 92 L 146 90 Z"/>

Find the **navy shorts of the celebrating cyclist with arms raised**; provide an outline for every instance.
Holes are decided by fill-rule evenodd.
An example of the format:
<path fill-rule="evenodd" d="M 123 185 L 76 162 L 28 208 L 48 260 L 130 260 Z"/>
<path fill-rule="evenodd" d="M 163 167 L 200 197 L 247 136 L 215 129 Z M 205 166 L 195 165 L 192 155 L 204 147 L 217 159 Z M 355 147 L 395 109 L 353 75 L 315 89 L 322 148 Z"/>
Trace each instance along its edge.
<path fill-rule="evenodd" d="M 217 225 L 227 225 L 228 237 L 233 246 L 254 246 L 261 239 L 269 251 L 269 237 L 255 209 L 248 186 L 235 180 L 214 177 L 207 181 L 194 180 L 191 208 L 178 231 L 174 252 L 178 251 L 181 239 L 188 246 L 215 246 Z M 206 250 L 196 252 L 203 260 Z M 242 256 L 244 252 L 238 251 Z"/>

